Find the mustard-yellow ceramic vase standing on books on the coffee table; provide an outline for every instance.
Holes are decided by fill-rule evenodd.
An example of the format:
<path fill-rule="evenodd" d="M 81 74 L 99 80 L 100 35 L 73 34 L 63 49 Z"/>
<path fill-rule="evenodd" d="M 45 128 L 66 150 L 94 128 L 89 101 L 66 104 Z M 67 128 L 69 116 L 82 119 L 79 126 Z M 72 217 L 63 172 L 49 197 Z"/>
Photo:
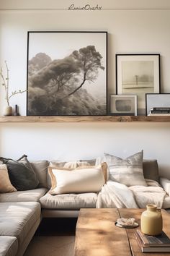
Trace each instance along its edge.
<path fill-rule="evenodd" d="M 161 234 L 163 226 L 161 210 L 158 210 L 156 205 L 151 204 L 146 205 L 146 209 L 141 215 L 141 231 L 148 236 Z"/>

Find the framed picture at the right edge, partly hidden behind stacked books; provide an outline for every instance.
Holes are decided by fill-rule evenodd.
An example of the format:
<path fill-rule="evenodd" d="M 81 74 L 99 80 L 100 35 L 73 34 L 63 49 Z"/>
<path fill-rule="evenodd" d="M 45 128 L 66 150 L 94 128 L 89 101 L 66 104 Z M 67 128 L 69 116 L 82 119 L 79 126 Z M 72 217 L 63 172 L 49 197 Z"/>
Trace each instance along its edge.
<path fill-rule="evenodd" d="M 170 108 L 170 93 L 146 93 L 146 116 L 152 108 Z"/>

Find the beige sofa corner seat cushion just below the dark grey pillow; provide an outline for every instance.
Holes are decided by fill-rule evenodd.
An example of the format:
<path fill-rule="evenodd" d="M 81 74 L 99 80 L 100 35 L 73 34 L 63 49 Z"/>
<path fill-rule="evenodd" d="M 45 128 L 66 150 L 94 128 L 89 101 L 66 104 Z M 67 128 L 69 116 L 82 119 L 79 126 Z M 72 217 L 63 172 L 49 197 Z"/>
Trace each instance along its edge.
<path fill-rule="evenodd" d="M 32 189 L 10 193 L 1 193 L 0 202 L 39 202 L 48 189 Z"/>

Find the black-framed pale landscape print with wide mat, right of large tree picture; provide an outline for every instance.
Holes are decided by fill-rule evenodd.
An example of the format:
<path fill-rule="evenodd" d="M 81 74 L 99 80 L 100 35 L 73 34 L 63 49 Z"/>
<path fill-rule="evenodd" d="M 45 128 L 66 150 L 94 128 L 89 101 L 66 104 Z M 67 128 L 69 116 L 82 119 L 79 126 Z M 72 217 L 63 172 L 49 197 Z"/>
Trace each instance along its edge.
<path fill-rule="evenodd" d="M 137 95 L 146 115 L 146 93 L 160 93 L 160 54 L 116 54 L 116 93 Z"/>

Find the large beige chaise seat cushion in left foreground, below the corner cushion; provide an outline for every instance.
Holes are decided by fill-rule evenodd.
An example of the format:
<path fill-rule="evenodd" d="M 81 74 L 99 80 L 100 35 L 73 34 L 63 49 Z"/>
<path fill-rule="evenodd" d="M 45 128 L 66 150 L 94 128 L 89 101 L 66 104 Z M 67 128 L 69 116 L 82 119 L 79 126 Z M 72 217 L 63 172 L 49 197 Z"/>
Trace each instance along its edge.
<path fill-rule="evenodd" d="M 1 202 L 0 236 L 15 236 L 20 246 L 40 214 L 39 202 Z"/>

